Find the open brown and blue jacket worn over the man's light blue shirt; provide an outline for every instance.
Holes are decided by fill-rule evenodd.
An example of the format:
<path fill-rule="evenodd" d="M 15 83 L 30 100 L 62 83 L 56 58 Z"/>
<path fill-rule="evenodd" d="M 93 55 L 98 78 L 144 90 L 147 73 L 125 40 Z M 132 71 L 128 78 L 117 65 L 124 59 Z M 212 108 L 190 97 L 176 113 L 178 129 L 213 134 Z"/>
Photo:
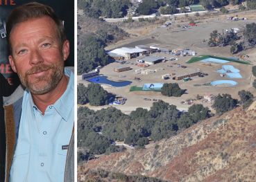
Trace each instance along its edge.
<path fill-rule="evenodd" d="M 22 96 L 24 90 L 18 87 L 5 102 L 5 123 L 6 123 L 6 173 L 5 182 L 9 181 L 10 167 L 15 153 L 16 141 L 19 137 L 19 122 L 22 115 Z M 71 136 L 69 149 L 67 151 L 67 160 L 65 165 L 65 182 L 74 181 L 74 133 Z"/>

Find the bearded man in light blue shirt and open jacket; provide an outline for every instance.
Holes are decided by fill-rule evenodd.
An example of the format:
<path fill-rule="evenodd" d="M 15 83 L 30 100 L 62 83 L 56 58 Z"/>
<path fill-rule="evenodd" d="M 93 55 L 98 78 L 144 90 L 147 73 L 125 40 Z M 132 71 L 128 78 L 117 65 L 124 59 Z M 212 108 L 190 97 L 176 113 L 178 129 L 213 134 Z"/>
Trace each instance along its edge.
<path fill-rule="evenodd" d="M 5 107 L 6 181 L 74 181 L 74 75 L 64 69 L 62 21 L 49 6 L 27 3 L 12 10 L 6 33 L 10 65 L 26 87 Z"/>

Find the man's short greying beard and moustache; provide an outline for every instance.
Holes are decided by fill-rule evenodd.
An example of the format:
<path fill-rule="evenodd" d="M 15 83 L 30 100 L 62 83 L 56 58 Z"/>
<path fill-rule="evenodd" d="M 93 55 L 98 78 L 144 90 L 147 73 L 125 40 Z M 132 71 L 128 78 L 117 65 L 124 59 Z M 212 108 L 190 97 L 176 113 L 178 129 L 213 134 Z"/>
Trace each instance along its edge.
<path fill-rule="evenodd" d="M 33 81 L 30 80 L 30 77 L 33 76 L 33 74 L 40 73 L 42 71 L 48 71 L 49 74 L 34 78 Z M 37 66 L 33 66 L 24 74 L 18 73 L 19 80 L 21 80 L 24 87 L 26 87 L 29 91 L 31 91 L 31 93 L 36 95 L 42 95 L 55 89 L 60 82 L 63 74 L 64 63 L 61 61 L 51 65 L 40 64 Z"/>

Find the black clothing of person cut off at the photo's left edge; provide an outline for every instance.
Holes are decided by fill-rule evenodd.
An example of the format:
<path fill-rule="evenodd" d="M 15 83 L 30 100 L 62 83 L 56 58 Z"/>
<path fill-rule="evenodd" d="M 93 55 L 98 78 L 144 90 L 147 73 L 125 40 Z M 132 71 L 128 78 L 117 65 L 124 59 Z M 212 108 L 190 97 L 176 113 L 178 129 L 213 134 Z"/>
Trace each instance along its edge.
<path fill-rule="evenodd" d="M 0 73 L 0 181 L 4 180 L 4 166 L 6 158 L 6 132 L 4 126 L 3 96 L 7 97 L 15 91 L 17 86 L 8 84 Z"/>

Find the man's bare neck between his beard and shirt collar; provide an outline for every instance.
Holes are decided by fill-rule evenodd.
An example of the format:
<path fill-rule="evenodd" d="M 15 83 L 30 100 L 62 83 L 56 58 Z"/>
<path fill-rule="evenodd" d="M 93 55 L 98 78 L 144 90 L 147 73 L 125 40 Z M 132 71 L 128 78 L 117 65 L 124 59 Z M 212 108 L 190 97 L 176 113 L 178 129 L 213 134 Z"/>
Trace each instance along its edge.
<path fill-rule="evenodd" d="M 40 111 L 42 111 L 43 114 L 46 108 L 49 105 L 54 104 L 56 100 L 58 100 L 66 91 L 68 82 L 69 78 L 66 75 L 64 75 L 58 83 L 57 87 L 52 91 L 49 91 L 48 93 L 42 95 L 36 95 L 31 93 L 35 105 L 38 109 L 40 109 Z"/>

